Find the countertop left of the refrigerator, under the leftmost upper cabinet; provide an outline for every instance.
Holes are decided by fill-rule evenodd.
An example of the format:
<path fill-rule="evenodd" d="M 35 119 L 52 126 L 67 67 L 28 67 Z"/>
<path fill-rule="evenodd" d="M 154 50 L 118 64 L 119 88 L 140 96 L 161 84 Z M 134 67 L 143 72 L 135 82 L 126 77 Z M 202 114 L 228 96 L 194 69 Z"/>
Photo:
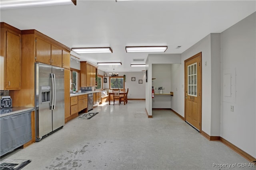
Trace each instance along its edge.
<path fill-rule="evenodd" d="M 12 107 L 9 109 L 0 109 L 0 117 L 14 115 L 17 113 L 22 113 L 27 111 L 34 111 L 34 110 L 35 110 L 34 107 L 23 107 L 23 106 Z"/>

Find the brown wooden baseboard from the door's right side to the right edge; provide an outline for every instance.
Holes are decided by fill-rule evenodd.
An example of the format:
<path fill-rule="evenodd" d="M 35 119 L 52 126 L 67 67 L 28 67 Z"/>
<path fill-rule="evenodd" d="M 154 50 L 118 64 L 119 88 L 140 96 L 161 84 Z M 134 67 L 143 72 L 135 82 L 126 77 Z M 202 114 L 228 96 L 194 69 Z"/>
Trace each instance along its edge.
<path fill-rule="evenodd" d="M 223 144 L 225 144 L 227 147 L 229 147 L 230 149 L 234 150 L 236 153 L 240 154 L 242 157 L 246 158 L 248 161 L 253 162 L 256 160 L 256 158 L 254 158 L 253 156 L 251 156 L 250 154 L 244 152 L 242 149 L 236 147 L 235 145 L 233 145 L 232 143 L 230 143 L 229 141 L 227 141 L 226 139 L 219 137 L 219 136 L 210 136 L 207 133 L 205 133 L 204 131 L 201 131 L 201 135 L 203 135 L 206 139 L 208 139 L 209 141 L 220 141 Z"/>

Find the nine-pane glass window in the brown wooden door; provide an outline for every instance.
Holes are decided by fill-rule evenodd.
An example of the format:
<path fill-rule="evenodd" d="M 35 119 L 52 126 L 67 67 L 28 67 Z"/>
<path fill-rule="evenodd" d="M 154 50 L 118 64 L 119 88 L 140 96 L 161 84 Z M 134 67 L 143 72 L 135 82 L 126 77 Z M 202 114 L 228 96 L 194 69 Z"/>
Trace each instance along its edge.
<path fill-rule="evenodd" d="M 188 95 L 197 96 L 197 65 L 188 66 Z"/>

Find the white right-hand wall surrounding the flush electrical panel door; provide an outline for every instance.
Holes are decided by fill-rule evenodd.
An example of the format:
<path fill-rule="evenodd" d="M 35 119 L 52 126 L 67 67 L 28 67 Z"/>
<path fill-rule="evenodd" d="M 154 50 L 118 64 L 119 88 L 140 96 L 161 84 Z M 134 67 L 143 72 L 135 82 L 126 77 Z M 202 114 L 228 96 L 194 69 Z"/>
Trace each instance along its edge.
<path fill-rule="evenodd" d="M 220 136 L 256 157 L 256 13 L 221 33 L 222 74 L 236 68 L 235 102 L 223 102 Z M 234 85 L 234 84 L 233 84 Z M 234 112 L 230 111 L 234 106 Z"/>

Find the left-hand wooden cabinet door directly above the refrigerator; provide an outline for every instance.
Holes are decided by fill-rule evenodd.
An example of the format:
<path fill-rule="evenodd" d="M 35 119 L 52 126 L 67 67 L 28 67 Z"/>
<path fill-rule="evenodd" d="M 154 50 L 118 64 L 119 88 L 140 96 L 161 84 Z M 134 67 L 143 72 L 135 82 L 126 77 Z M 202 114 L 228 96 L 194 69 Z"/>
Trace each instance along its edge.
<path fill-rule="evenodd" d="M 51 44 L 43 39 L 36 38 L 36 62 L 51 64 Z"/>

